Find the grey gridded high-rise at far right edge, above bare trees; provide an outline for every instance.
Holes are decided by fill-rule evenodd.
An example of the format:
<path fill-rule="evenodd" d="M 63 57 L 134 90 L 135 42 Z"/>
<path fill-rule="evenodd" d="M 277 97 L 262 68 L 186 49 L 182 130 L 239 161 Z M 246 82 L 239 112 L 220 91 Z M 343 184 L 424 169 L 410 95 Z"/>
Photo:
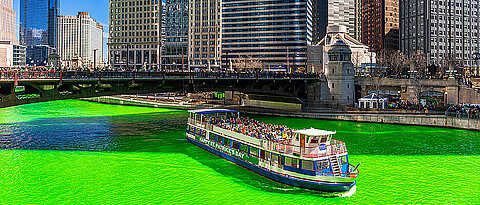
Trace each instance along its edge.
<path fill-rule="evenodd" d="M 478 68 L 472 54 L 480 48 L 479 1 L 400 1 L 400 49 L 422 51 L 427 64 Z"/>

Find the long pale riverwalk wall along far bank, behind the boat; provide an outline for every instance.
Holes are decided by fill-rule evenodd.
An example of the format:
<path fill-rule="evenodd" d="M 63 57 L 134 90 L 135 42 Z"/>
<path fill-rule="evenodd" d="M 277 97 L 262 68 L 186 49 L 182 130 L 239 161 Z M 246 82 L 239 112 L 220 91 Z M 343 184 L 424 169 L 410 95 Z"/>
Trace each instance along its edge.
<path fill-rule="evenodd" d="M 262 109 L 248 106 L 223 106 L 212 104 L 193 104 L 193 103 L 167 103 L 153 101 L 141 98 L 130 98 L 125 96 L 104 96 L 85 98 L 82 100 L 106 104 L 132 105 L 155 108 L 174 108 L 180 110 L 200 109 L 200 108 L 228 108 L 240 111 L 245 114 L 266 115 L 277 117 L 294 117 L 321 120 L 351 121 L 384 123 L 399 125 L 416 125 L 429 127 L 444 127 L 466 130 L 480 131 L 480 120 L 448 117 L 445 115 L 431 114 L 412 114 L 412 113 L 391 113 L 391 112 L 288 112 L 276 109 Z"/>

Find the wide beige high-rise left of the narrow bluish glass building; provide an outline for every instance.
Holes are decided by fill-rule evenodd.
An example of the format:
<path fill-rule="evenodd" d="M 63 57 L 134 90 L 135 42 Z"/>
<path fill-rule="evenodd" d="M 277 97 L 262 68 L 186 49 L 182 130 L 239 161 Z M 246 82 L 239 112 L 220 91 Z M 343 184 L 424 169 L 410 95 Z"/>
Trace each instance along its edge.
<path fill-rule="evenodd" d="M 162 1 L 110 0 L 108 52 L 113 67 L 157 69 Z"/>

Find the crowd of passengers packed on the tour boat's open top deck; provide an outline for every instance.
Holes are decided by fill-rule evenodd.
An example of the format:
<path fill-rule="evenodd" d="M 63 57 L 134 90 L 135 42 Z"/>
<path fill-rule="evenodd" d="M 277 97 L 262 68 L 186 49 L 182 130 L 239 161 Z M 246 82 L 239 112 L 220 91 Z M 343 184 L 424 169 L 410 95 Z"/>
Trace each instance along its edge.
<path fill-rule="evenodd" d="M 223 118 L 210 116 L 207 118 L 207 122 L 230 131 L 277 142 L 291 136 L 293 131 L 284 125 L 268 124 L 248 117 Z"/>

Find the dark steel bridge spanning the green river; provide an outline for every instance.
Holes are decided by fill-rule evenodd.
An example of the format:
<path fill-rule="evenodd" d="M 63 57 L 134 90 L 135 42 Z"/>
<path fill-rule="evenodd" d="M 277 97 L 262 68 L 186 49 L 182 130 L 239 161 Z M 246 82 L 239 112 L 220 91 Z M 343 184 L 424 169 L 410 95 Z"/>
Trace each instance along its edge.
<path fill-rule="evenodd" d="M 305 99 L 320 76 L 225 72 L 0 72 L 0 107 L 52 100 L 177 91 L 240 91 Z"/>

